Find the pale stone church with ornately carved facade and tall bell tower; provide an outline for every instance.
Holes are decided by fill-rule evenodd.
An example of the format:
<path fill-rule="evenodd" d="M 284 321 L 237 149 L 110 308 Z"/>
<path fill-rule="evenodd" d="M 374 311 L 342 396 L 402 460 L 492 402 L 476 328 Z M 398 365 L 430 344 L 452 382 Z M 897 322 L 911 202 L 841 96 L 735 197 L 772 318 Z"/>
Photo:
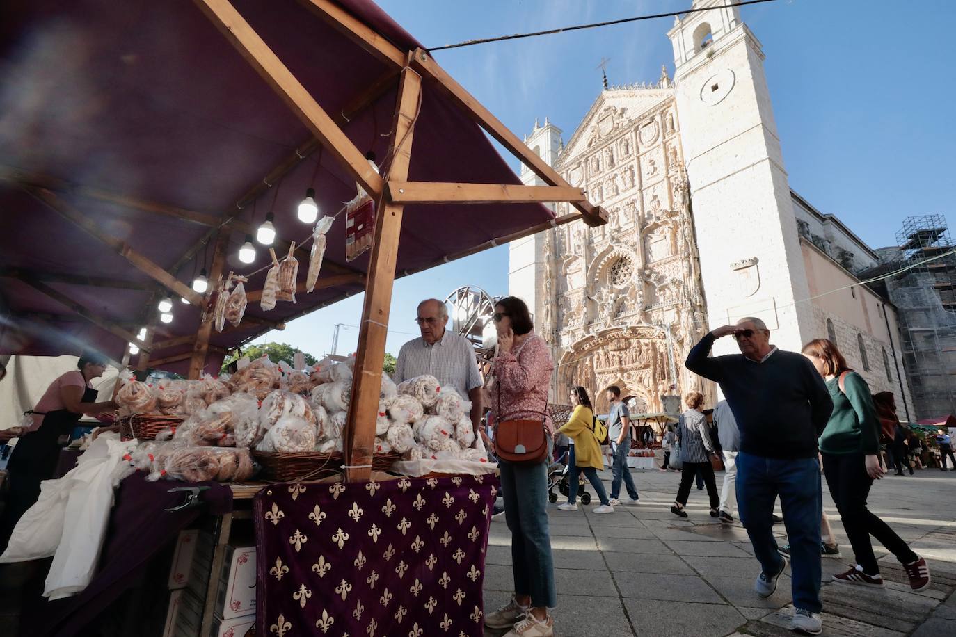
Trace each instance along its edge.
<path fill-rule="evenodd" d="M 684 369 L 688 350 L 709 329 L 758 316 L 774 344 L 798 351 L 834 320 L 851 321 L 833 303 L 805 302 L 819 287 L 814 277 L 823 265 L 815 260 L 832 264 L 803 236 L 803 220 L 818 220 L 794 204 L 759 41 L 736 8 L 685 14 L 668 36 L 673 80 L 663 69 L 652 85 L 605 87 L 566 145 L 548 119 L 525 139 L 609 217 L 602 227 L 568 223 L 510 246 L 509 291 L 529 302 L 538 333 L 553 347 L 558 402 L 582 385 L 597 393 L 600 411 L 606 401 L 597 391 L 616 384 L 640 411 L 665 411 L 662 396 L 692 389 L 712 406 L 713 384 Z M 539 183 L 524 166 L 521 175 Z M 559 203 L 555 212 L 571 210 Z M 872 250 L 845 234 L 866 262 Z M 858 282 L 845 269 L 840 275 Z M 864 288 L 861 296 L 879 305 Z M 894 318 L 886 333 L 870 321 L 858 328 L 872 341 L 861 345 L 864 359 L 867 348 L 894 347 L 889 308 L 883 303 Z M 730 339 L 715 346 L 715 353 L 731 351 Z M 845 353 L 853 362 L 853 352 Z M 875 371 L 867 380 L 874 391 L 885 385 L 908 394 L 902 374 L 894 375 Z"/>

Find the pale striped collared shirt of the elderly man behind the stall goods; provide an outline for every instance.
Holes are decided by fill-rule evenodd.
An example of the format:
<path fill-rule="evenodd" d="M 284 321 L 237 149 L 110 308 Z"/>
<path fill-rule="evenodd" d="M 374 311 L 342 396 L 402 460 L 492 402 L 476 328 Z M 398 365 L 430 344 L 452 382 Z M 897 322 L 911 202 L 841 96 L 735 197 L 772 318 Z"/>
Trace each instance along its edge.
<path fill-rule="evenodd" d="M 424 338 L 419 337 L 408 341 L 399 350 L 392 378 L 396 383 L 424 373 L 435 376 L 443 387 L 454 389 L 465 399 L 470 390 L 482 386 L 470 341 L 448 329 L 434 345 L 428 345 Z"/>

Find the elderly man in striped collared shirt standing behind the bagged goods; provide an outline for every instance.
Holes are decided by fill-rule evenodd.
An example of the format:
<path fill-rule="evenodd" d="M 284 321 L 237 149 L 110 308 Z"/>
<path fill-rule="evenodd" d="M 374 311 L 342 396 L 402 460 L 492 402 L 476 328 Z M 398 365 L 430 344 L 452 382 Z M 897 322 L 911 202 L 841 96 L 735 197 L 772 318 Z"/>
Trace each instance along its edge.
<path fill-rule="evenodd" d="M 482 378 L 471 343 L 464 336 L 445 329 L 448 308 L 438 299 L 425 299 L 420 303 L 415 322 L 422 337 L 402 345 L 392 379 L 401 383 L 424 373 L 435 376 L 443 389 L 453 389 L 471 401 L 471 424 L 475 432 L 480 432 Z"/>

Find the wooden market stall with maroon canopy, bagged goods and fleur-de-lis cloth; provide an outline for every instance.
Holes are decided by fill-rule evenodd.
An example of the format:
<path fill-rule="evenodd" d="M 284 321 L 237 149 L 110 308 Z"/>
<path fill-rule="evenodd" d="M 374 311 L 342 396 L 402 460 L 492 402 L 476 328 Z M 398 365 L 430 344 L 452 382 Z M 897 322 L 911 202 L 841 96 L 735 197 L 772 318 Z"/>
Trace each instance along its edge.
<path fill-rule="evenodd" d="M 262 634 L 333 622 L 371 634 L 398 606 L 402 626 L 481 634 L 496 478 L 468 469 L 489 463 L 455 420 L 460 400 L 427 377 L 382 378 L 392 285 L 557 224 L 605 223 L 603 211 L 371 2 L 17 1 L 0 31 L 0 204 L 12 213 L 0 218 L 0 353 L 98 350 L 185 377 L 149 387 L 123 374 L 122 427 L 137 438 L 98 438 L 73 478 L 54 482 L 66 494 L 84 472 L 98 477 L 84 523 L 100 536 L 82 536 L 99 545 L 43 525 L 59 512 L 71 528 L 76 510 L 54 498 L 22 519 L 44 529 L 49 544 L 32 548 L 54 563 L 50 601 L 25 605 L 21 628 L 102 623 L 120 595 L 126 621 L 164 615 L 129 595 L 155 595 L 157 556 L 196 528 L 178 545 L 195 541 L 199 581 L 184 575 L 163 598 L 173 614 L 160 626 L 226 634 L 250 608 L 227 598 L 254 555 Z M 549 185 L 521 185 L 486 134 Z M 541 202 L 576 212 L 555 218 Z M 217 377 L 228 351 L 362 291 L 354 357 L 312 369 L 255 360 Z M 458 470 L 382 471 L 402 457 L 427 473 L 421 461 L 440 454 Z M 253 456 L 271 486 L 242 484 Z M 51 590 L 77 554 L 89 584 Z M 420 595 L 453 616 L 412 604 Z"/>

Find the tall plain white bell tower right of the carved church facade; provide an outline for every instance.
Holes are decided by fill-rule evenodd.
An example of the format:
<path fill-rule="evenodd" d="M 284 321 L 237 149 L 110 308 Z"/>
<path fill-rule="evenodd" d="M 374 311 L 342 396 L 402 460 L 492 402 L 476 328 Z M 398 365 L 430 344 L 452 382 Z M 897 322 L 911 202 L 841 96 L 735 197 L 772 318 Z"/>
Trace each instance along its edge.
<path fill-rule="evenodd" d="M 710 329 L 764 320 L 799 351 L 815 334 L 810 296 L 764 74 L 764 53 L 723 0 L 694 0 L 667 33 Z M 713 9 L 707 9 L 713 7 Z M 806 333 L 805 333 L 806 332 Z M 715 353 L 735 352 L 721 339 Z"/>

